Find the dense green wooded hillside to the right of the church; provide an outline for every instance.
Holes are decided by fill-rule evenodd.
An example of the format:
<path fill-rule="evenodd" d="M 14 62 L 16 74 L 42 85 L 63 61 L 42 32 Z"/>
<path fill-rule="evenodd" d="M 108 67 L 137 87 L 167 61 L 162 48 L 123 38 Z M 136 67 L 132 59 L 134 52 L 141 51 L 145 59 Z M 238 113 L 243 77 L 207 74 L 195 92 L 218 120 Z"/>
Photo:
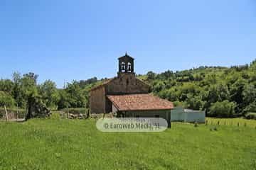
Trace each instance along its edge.
<path fill-rule="evenodd" d="M 151 91 L 176 106 L 206 110 L 208 115 L 256 112 L 256 60 L 250 65 L 198 67 L 181 72 L 148 72 Z"/>

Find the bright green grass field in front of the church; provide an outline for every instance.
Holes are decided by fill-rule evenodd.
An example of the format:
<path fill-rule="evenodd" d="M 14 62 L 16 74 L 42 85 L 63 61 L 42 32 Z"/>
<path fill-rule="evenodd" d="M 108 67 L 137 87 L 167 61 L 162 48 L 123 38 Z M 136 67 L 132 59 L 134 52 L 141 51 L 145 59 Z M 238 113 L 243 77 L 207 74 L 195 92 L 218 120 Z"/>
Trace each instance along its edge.
<path fill-rule="evenodd" d="M 0 169 L 256 169 L 256 121 L 215 126 L 104 133 L 95 120 L 1 122 Z"/>

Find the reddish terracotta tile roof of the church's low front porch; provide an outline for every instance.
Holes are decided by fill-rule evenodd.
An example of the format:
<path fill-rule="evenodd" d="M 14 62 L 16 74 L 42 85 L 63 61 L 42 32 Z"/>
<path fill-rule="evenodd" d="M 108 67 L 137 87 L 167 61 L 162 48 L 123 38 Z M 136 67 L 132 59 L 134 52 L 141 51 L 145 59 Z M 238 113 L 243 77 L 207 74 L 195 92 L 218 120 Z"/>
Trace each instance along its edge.
<path fill-rule="evenodd" d="M 128 94 L 107 96 L 118 111 L 167 110 L 174 104 L 151 94 Z"/>

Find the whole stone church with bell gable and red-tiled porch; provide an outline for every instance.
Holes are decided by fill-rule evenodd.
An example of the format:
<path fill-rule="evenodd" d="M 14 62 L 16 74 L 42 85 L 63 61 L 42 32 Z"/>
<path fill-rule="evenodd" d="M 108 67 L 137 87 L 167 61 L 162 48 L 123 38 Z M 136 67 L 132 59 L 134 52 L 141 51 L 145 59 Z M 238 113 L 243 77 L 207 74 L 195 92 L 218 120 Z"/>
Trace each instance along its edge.
<path fill-rule="evenodd" d="M 90 91 L 91 113 L 122 113 L 126 117 L 156 117 L 171 120 L 173 103 L 149 94 L 149 85 L 137 79 L 134 58 L 119 57 L 117 77 Z"/>

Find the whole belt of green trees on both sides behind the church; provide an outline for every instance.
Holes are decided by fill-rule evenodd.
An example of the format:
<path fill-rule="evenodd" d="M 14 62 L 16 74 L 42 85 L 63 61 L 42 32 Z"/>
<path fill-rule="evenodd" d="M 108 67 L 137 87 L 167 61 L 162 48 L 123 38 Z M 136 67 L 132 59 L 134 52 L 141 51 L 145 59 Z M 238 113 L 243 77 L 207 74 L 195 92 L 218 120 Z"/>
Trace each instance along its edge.
<path fill-rule="evenodd" d="M 173 101 L 176 106 L 206 110 L 213 116 L 256 112 L 256 60 L 230 68 L 198 67 L 181 72 L 148 72 L 137 77 L 151 86 L 153 94 Z M 63 89 L 58 89 L 53 81 L 38 84 L 37 80 L 37 74 L 18 72 L 12 79 L 1 79 L 0 107 L 34 106 L 38 113 L 42 108 L 88 108 L 90 89 L 105 79 L 73 81 Z"/>

